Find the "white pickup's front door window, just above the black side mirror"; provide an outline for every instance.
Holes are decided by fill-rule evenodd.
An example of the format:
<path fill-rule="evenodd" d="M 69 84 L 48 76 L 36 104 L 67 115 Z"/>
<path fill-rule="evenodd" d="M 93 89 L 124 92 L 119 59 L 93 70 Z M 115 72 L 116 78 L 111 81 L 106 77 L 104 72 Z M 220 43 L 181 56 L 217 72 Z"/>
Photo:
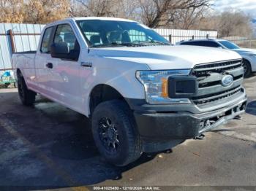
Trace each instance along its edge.
<path fill-rule="evenodd" d="M 75 50 L 75 46 L 78 46 L 78 42 L 75 38 L 75 34 L 72 28 L 68 24 L 59 25 L 54 36 L 54 43 L 65 42 L 69 47 L 69 52 Z"/>

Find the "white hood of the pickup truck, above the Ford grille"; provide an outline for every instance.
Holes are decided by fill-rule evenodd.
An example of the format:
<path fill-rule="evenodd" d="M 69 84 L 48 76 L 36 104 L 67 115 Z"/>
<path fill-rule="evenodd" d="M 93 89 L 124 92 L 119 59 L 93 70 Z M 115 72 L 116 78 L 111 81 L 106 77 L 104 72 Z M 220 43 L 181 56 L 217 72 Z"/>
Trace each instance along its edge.
<path fill-rule="evenodd" d="M 199 63 L 241 59 L 230 50 L 198 46 L 106 47 L 91 49 L 99 57 L 145 63 L 151 70 L 192 69 Z"/>

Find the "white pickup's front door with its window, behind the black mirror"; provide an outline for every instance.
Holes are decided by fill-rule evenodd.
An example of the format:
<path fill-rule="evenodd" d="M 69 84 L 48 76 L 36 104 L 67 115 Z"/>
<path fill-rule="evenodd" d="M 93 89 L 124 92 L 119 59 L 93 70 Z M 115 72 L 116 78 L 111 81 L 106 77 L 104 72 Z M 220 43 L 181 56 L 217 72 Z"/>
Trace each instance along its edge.
<path fill-rule="evenodd" d="M 53 36 L 53 43 L 67 43 L 69 52 L 72 50 L 80 50 L 78 40 L 71 28 L 67 24 L 61 24 L 56 27 Z M 81 88 L 80 88 L 80 64 L 78 61 L 50 58 L 50 77 L 52 80 L 55 99 L 63 102 L 64 105 L 80 112 L 82 104 Z"/>

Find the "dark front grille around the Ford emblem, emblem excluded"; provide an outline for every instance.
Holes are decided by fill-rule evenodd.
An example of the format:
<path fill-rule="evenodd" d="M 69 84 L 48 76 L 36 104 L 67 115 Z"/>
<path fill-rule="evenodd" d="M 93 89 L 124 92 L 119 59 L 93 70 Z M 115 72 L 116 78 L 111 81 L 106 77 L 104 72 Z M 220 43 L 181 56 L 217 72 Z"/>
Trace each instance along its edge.
<path fill-rule="evenodd" d="M 225 74 L 233 76 L 234 82 L 230 87 L 222 86 L 221 79 Z M 192 76 L 197 77 L 198 82 L 197 95 L 192 98 L 197 106 L 226 100 L 243 91 L 241 60 L 198 64 L 192 69 Z"/>

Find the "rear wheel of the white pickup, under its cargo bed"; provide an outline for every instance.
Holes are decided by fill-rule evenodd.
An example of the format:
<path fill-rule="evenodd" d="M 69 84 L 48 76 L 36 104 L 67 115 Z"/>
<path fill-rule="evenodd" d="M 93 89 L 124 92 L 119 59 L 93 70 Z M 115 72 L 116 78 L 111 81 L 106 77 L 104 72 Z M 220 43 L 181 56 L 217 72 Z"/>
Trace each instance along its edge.
<path fill-rule="evenodd" d="M 36 100 L 37 93 L 28 89 L 26 82 L 20 73 L 18 74 L 17 84 L 21 103 L 25 106 L 32 106 Z"/>

